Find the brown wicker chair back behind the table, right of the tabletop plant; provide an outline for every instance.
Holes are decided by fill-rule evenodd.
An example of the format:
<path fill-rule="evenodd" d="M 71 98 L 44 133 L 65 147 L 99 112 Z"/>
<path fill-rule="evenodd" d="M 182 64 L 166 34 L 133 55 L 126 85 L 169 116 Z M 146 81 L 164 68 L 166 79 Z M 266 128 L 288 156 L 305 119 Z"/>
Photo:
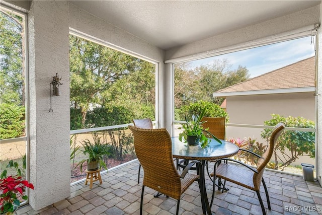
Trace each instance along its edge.
<path fill-rule="evenodd" d="M 226 127 L 225 127 L 226 117 L 202 117 L 201 121 L 206 121 L 203 123 L 204 128 L 209 128 L 209 132 L 219 139 L 225 139 Z"/>

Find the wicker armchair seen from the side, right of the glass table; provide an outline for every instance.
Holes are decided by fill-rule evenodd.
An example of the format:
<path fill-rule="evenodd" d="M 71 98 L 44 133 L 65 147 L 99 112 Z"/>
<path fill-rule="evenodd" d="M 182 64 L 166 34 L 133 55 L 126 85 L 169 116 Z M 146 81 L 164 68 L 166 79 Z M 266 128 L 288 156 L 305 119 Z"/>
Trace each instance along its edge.
<path fill-rule="evenodd" d="M 270 198 L 268 195 L 268 191 L 266 188 L 266 184 L 263 178 L 263 173 L 265 170 L 266 165 L 270 161 L 272 155 L 273 155 L 273 150 L 275 143 L 280 136 L 280 134 L 284 130 L 284 124 L 283 123 L 278 123 L 270 136 L 270 142 L 269 145 L 264 153 L 263 156 L 259 156 L 255 154 L 252 151 L 249 150 L 244 150 L 244 149 L 239 149 L 241 151 L 245 151 L 247 153 L 251 153 L 254 156 L 257 156 L 259 158 L 257 162 L 257 168 L 254 168 L 252 166 L 246 165 L 243 162 L 236 161 L 233 159 L 219 159 L 215 163 L 215 168 L 214 172 L 211 174 L 213 178 L 213 191 L 212 191 L 212 198 L 211 198 L 211 204 L 213 203 L 214 199 L 214 191 L 215 191 L 215 180 L 216 178 L 221 178 L 224 179 L 223 187 L 225 186 L 226 181 L 230 181 L 232 183 L 235 183 L 237 185 L 246 187 L 248 189 L 254 190 L 257 193 L 258 199 L 260 201 L 261 207 L 263 214 L 266 214 L 264 204 L 260 195 L 260 186 L 261 182 L 263 182 L 263 186 L 265 189 L 265 194 L 266 194 L 266 199 L 267 199 L 267 205 L 268 208 L 271 209 L 271 203 L 270 203 Z M 222 161 L 230 161 L 231 163 L 238 163 L 241 166 L 246 167 L 247 169 L 251 170 L 245 170 L 244 168 L 241 168 L 238 165 L 233 165 L 231 163 L 221 163 Z M 223 190 L 222 190 L 223 191 Z"/>

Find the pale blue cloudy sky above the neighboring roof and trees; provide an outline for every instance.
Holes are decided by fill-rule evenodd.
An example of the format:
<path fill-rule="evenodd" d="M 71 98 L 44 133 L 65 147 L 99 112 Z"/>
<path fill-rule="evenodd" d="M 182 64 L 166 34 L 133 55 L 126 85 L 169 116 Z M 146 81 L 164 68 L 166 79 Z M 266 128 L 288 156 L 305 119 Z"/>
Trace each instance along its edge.
<path fill-rule="evenodd" d="M 315 37 L 314 37 L 315 39 Z M 257 48 L 236 51 L 190 62 L 191 68 L 212 64 L 215 59 L 228 59 L 231 69 L 238 65 L 246 66 L 250 78 L 260 76 L 283 66 L 314 56 L 314 43 L 311 37 L 303 37 Z"/>

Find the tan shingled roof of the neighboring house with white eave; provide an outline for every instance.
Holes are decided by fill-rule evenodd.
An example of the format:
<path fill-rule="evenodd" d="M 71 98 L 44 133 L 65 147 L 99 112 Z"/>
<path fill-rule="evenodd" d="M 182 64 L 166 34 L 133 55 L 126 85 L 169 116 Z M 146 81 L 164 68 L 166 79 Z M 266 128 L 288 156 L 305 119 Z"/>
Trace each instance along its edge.
<path fill-rule="evenodd" d="M 314 92 L 315 57 L 309 57 L 261 76 L 224 88 L 214 97 Z"/>

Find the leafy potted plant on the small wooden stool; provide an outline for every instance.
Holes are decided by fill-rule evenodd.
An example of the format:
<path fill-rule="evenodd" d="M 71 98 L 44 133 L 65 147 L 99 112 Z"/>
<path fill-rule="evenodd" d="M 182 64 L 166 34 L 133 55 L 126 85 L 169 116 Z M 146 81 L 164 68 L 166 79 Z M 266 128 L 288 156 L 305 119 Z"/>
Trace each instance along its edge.
<path fill-rule="evenodd" d="M 83 140 L 83 147 L 81 151 L 84 155 L 87 155 L 88 158 L 79 162 L 81 165 L 81 171 L 83 171 L 83 164 L 87 162 L 88 171 L 95 171 L 99 168 L 104 167 L 107 170 L 107 166 L 104 162 L 104 156 L 110 155 L 110 148 L 108 144 L 105 144 L 101 141 L 101 136 L 98 134 L 93 134 L 94 141 L 89 139 Z"/>

